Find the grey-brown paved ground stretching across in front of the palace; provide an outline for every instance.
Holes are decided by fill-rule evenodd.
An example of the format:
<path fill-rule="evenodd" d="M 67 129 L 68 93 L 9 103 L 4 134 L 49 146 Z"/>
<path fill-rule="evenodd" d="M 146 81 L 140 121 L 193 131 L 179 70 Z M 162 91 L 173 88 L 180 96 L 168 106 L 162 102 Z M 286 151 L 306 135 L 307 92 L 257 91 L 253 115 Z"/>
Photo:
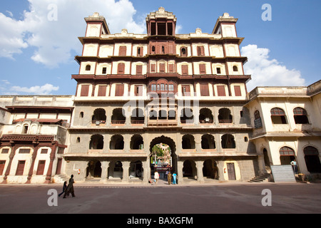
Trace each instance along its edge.
<path fill-rule="evenodd" d="M 48 191 L 51 189 L 60 193 L 62 186 L 0 185 L 0 213 L 321 213 L 321 184 L 238 182 L 202 186 L 168 186 L 165 183 L 111 186 L 76 183 L 76 197 L 58 197 L 58 206 L 50 207 Z M 262 204 L 265 189 L 271 192 L 272 206 Z"/>

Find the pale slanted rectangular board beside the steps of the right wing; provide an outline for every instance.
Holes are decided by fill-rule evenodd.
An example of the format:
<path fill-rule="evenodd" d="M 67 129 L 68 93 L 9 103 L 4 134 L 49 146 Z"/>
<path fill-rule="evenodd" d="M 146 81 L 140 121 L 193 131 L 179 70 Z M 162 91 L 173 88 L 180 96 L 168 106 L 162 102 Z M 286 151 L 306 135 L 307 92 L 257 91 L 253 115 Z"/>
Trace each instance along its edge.
<path fill-rule="evenodd" d="M 271 165 L 274 182 L 296 182 L 292 165 Z"/>

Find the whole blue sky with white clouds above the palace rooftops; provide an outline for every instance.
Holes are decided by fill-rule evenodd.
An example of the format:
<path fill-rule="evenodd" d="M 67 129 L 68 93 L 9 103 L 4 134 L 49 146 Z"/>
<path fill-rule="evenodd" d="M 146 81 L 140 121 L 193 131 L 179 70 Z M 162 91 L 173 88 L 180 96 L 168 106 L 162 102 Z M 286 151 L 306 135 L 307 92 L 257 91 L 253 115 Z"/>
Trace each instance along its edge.
<path fill-rule="evenodd" d="M 248 91 L 321 79 L 319 0 L 2 0 L 0 95 L 74 95 L 84 18 L 98 12 L 111 33 L 146 33 L 146 15 L 160 6 L 177 17 L 176 33 L 212 33 L 225 12 L 237 18 Z"/>

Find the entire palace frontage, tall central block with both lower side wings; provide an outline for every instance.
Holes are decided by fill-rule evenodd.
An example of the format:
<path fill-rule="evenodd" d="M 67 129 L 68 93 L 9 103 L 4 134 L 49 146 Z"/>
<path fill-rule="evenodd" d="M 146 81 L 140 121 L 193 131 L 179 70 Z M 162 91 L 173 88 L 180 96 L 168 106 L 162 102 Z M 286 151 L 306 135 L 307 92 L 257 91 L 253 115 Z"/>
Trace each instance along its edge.
<path fill-rule="evenodd" d="M 238 19 L 189 34 L 163 7 L 147 34 L 112 34 L 98 13 L 85 21 L 76 95 L 0 98 L 1 182 L 148 184 L 168 169 L 179 184 L 248 181 L 293 157 L 321 172 L 321 82 L 248 93 Z M 170 158 L 156 165 L 160 143 Z"/>

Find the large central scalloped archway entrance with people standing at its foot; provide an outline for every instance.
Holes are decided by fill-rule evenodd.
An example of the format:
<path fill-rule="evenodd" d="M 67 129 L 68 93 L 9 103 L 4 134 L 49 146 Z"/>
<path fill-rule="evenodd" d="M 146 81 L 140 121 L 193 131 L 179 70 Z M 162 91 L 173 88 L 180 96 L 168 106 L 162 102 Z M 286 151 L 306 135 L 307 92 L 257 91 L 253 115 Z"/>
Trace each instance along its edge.
<path fill-rule="evenodd" d="M 165 179 L 165 172 L 175 172 L 177 174 L 177 156 L 175 155 L 175 142 L 168 137 L 162 135 L 154 138 L 150 144 L 150 167 L 151 178 L 157 170 L 161 179 Z M 166 180 L 166 179 L 165 179 Z"/>

